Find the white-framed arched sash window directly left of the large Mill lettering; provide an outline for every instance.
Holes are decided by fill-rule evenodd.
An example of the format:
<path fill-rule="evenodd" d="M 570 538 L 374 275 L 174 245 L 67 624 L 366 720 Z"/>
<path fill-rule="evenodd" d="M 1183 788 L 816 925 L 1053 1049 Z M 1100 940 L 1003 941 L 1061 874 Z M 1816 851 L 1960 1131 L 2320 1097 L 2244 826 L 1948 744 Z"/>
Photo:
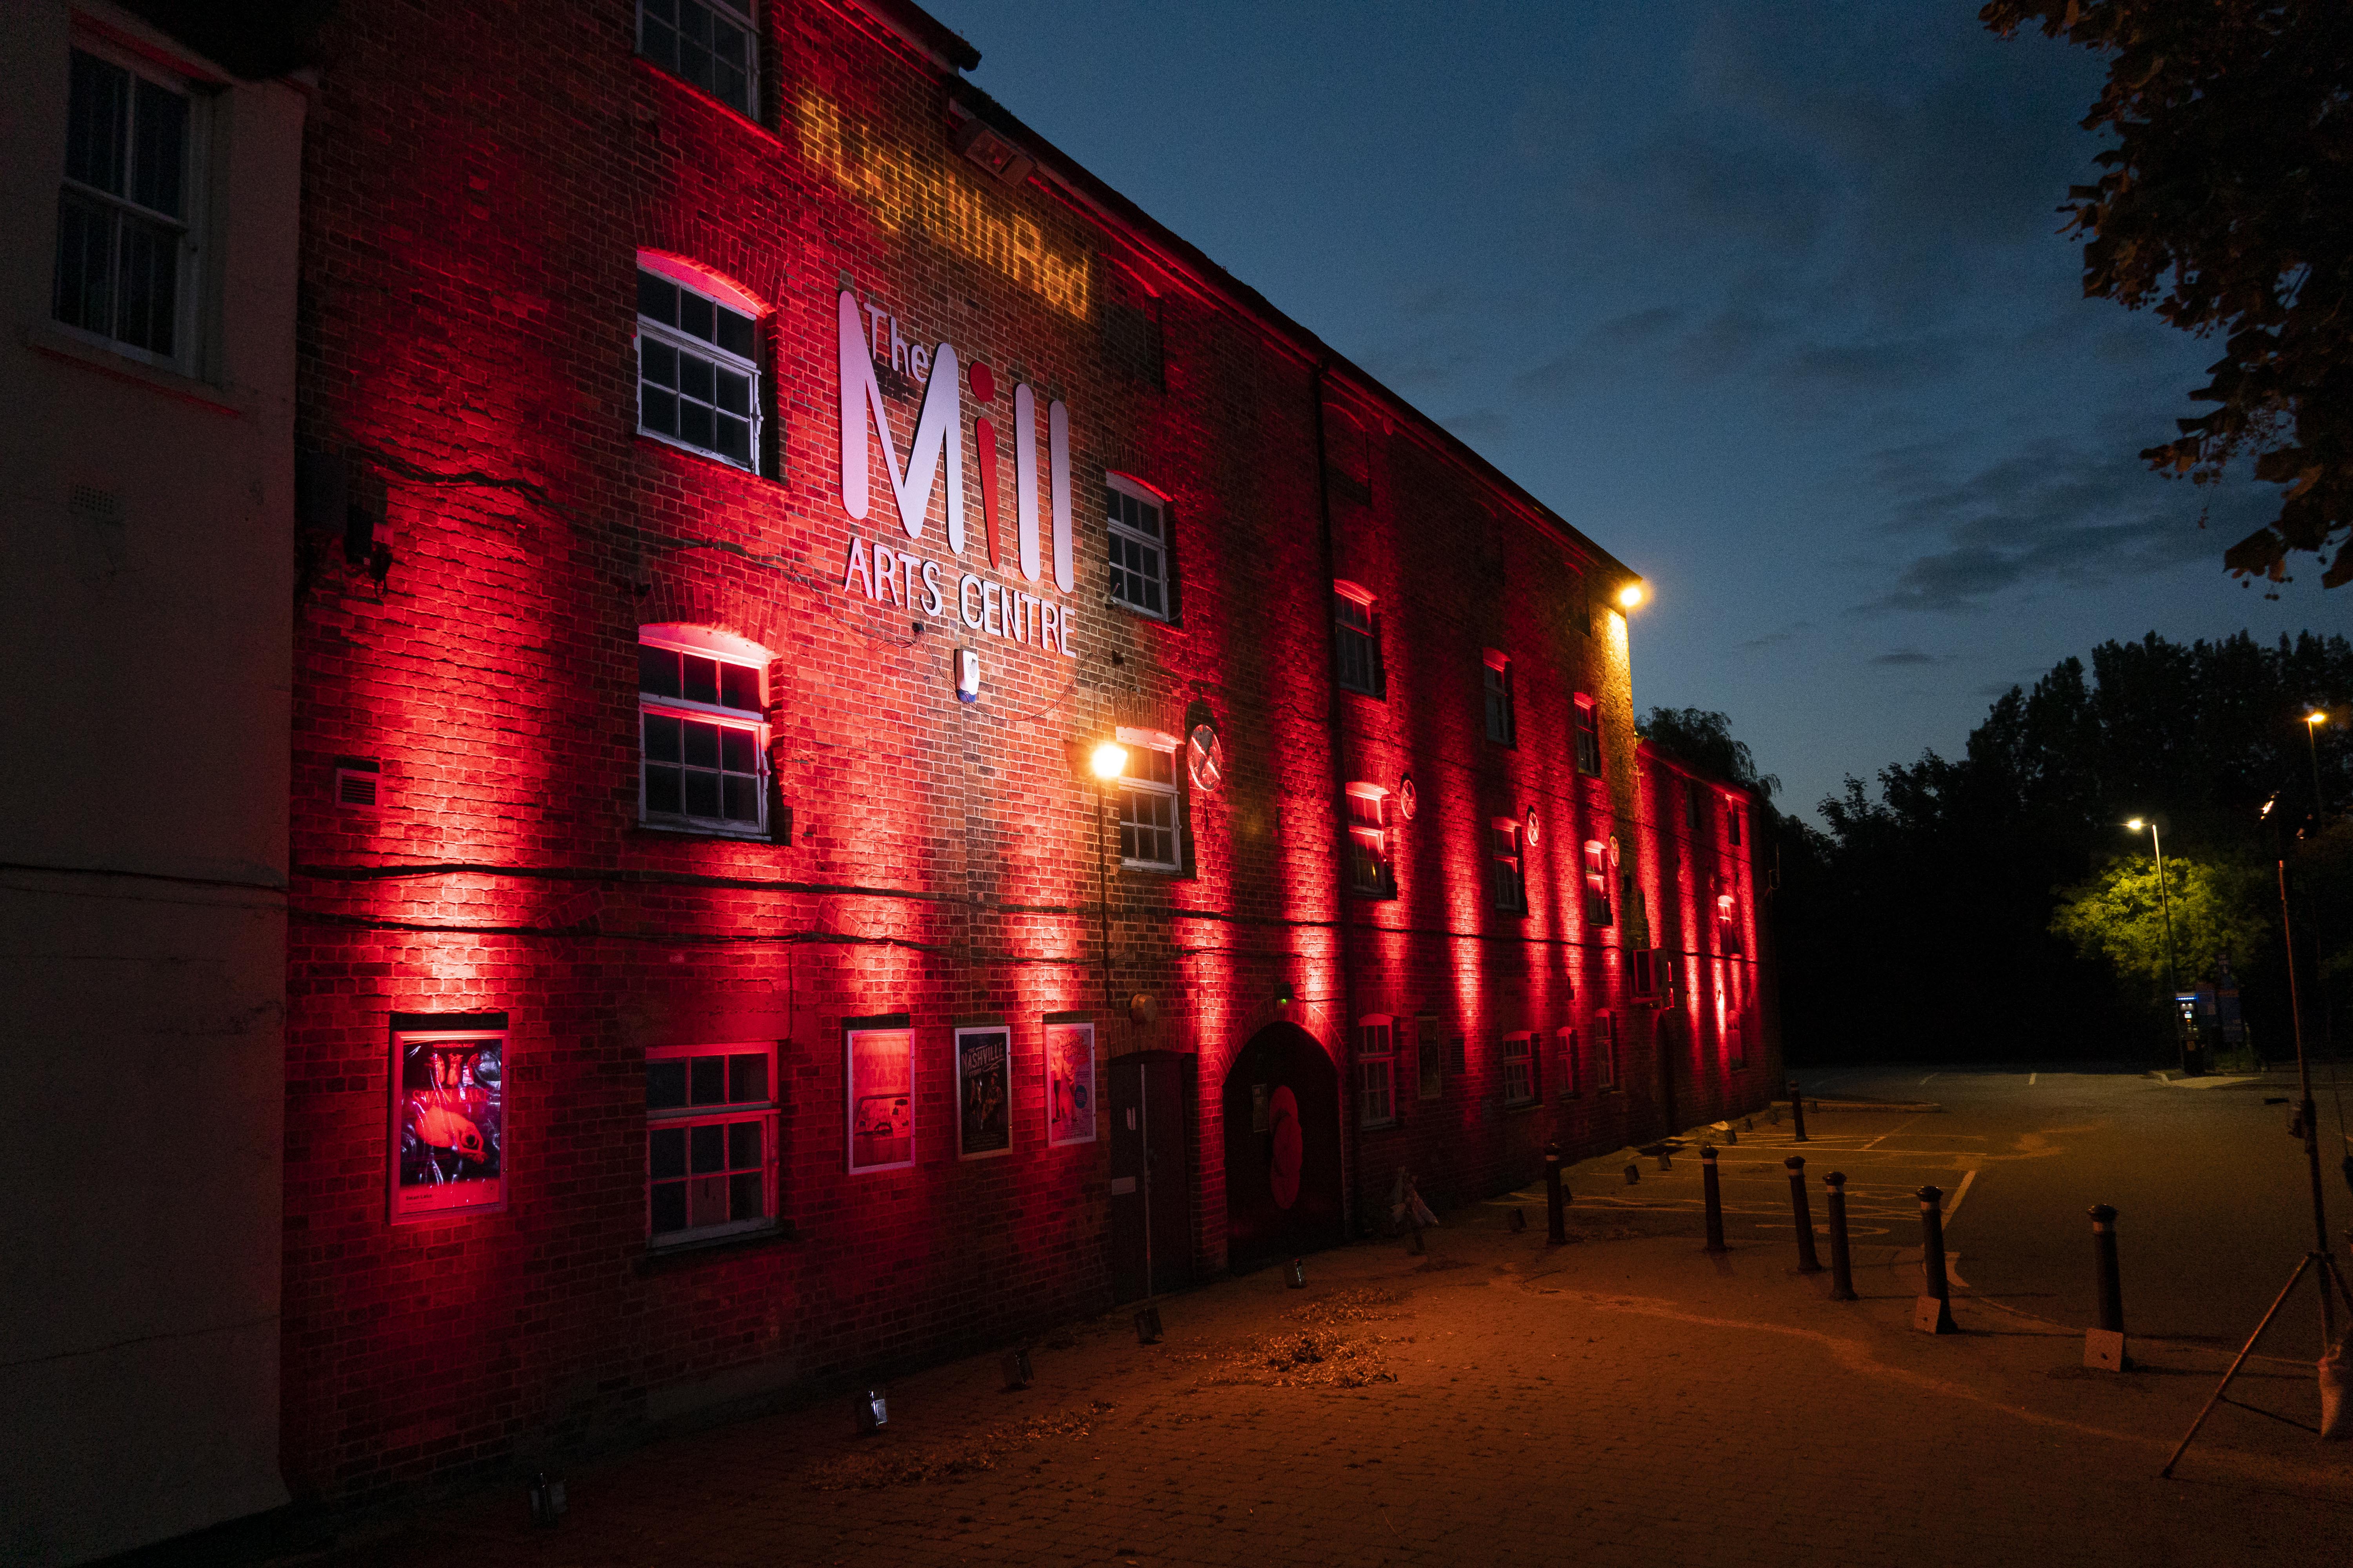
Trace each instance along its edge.
<path fill-rule="evenodd" d="M 753 317 L 638 266 L 638 430 L 760 473 Z"/>

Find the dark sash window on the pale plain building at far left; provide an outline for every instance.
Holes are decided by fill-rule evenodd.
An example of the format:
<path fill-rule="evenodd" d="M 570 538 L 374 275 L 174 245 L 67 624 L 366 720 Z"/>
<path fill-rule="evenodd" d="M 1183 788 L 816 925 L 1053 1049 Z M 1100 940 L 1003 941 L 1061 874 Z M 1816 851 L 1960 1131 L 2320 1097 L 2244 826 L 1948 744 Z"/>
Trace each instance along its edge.
<path fill-rule="evenodd" d="M 193 327 L 200 106 L 146 66 L 73 49 L 49 315 L 160 362 Z"/>

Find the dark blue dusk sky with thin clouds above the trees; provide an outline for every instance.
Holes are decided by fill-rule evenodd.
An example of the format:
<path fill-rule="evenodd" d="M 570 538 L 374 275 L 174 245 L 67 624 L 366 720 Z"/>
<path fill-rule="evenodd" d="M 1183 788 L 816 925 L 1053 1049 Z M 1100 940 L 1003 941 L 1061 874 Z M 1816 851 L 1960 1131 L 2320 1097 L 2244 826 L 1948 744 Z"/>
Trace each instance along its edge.
<path fill-rule="evenodd" d="M 2054 207 L 2101 66 L 1974 2 L 929 9 L 1642 571 L 1635 710 L 1732 715 L 1786 806 L 2108 637 L 2353 623 L 2308 557 L 2278 602 L 2221 571 L 2271 487 L 2137 461 L 2219 348 L 2082 299 Z"/>

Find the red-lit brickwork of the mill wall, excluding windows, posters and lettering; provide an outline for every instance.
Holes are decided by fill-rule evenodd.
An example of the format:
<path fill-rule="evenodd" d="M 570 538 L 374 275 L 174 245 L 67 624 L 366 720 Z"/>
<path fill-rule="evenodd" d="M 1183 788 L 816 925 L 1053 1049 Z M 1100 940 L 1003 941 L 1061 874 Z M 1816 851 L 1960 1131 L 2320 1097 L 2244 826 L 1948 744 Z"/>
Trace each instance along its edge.
<path fill-rule="evenodd" d="M 311 541 L 296 628 L 296 1493 L 454 1481 L 1106 1307 L 1106 1145 L 1047 1145 L 1047 1013 L 1096 1016 L 1106 1060 L 1195 1067 L 1198 1269 L 1226 1260 L 1226 1070 L 1275 1016 L 1344 1067 L 1372 1011 L 1433 1011 L 1466 1037 L 1466 1074 L 1400 1128 L 1355 1128 L 1351 1103 L 1351 1190 L 1374 1211 L 1395 1164 L 1468 1199 L 1529 1175 L 1546 1138 L 1657 1131 L 1638 1016 L 1624 1093 L 1562 1100 L 1546 1081 L 1532 1110 L 1494 1105 L 1501 1032 L 1541 1030 L 1551 1074 L 1555 1027 L 1621 1006 L 1621 954 L 1577 910 L 1584 839 L 1626 844 L 1661 924 L 1661 867 L 1699 865 L 1652 832 L 1624 625 L 1595 609 L 1584 628 L 1586 595 L 1626 569 L 1082 174 L 1014 190 L 958 158 L 965 89 L 878 16 L 769 12 L 760 122 L 638 59 L 616 0 L 334 24 L 308 143 L 301 440 L 344 454 L 391 567 L 379 585 Z M 765 306 L 760 475 L 635 435 L 638 249 Z M 951 583 L 1014 578 L 979 564 L 969 393 L 965 555 L 936 491 L 920 541 L 880 480 L 871 515 L 847 517 L 845 287 L 906 339 L 1068 404 L 1078 588 L 1038 588 L 1068 611 L 1068 658 L 845 585 L 852 538 Z M 906 451 L 922 388 L 885 393 Z M 1325 407 L 1353 421 L 1325 454 L 1346 484 L 1320 470 Z M 991 411 L 1012 423 L 1005 395 Z M 1106 602 L 1106 470 L 1167 496 L 1169 623 Z M 1332 576 L 1381 595 L 1386 701 L 1334 693 Z M 647 623 L 772 654 L 788 844 L 638 825 Z M 979 703 L 951 691 L 955 646 L 981 649 Z M 1482 646 L 1522 661 L 1508 750 L 1480 731 Z M 1577 776 L 1572 691 L 1602 705 L 1602 778 Z M 1188 788 L 1188 875 L 1120 872 L 1113 846 L 1104 877 L 1087 748 L 1200 717 L 1226 778 Z M 381 762 L 381 811 L 332 804 L 336 757 Z M 1395 832 L 1398 898 L 1348 898 L 1344 785 L 1405 773 L 1421 806 Z M 1529 811 L 1532 912 L 1501 917 L 1480 830 Z M 1136 992 L 1155 1023 L 1129 1020 Z M 395 1227 L 391 1016 L 471 1011 L 511 1018 L 506 1208 Z M 852 1175 L 842 1020 L 873 1013 L 915 1032 L 918 1161 Z M 951 1020 L 986 1013 L 1014 1032 L 1014 1147 L 958 1161 Z M 649 1253 L 645 1051 L 746 1039 L 779 1041 L 791 1227 Z M 1685 1117 L 1753 1100 L 1715 1060 L 1680 1067 Z"/>

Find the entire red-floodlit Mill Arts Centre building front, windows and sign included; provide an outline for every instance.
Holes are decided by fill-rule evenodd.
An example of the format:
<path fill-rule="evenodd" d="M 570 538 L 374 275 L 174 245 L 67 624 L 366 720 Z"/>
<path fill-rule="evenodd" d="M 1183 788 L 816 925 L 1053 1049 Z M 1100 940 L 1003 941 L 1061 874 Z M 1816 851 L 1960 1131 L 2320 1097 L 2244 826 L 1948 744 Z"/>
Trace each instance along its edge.
<path fill-rule="evenodd" d="M 292 1488 L 1762 1105 L 1748 802 L 1635 741 L 1633 571 L 913 7 L 760 5 L 744 73 L 680 7 L 322 40 Z"/>

